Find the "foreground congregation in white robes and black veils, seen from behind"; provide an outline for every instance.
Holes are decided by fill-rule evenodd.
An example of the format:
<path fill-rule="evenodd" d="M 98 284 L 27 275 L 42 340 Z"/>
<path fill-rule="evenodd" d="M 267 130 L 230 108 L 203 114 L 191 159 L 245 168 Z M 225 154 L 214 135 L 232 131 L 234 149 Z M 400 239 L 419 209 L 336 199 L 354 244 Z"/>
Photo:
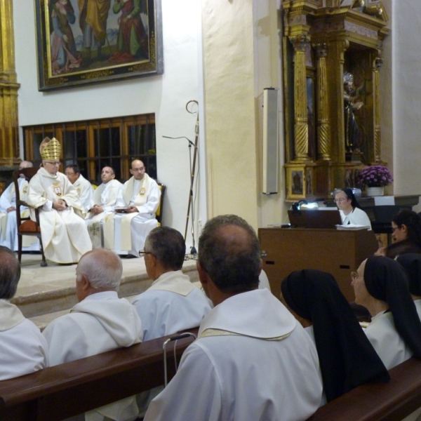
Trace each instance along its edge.
<path fill-rule="evenodd" d="M 136 171 L 142 172 L 144 168 Z M 124 196 L 121 186 L 116 190 L 115 196 Z M 341 193 L 335 198 L 345 199 Z M 106 201 L 93 206 L 104 213 Z M 127 209 L 137 206 L 127 203 L 131 200 Z M 410 234 L 417 232 L 414 214 L 401 210 L 396 215 L 396 241 L 417 241 Z M 402 232 L 406 236 L 400 237 Z M 261 288 L 258 237 L 236 215 L 215 217 L 201 232 L 201 288 L 182 274 L 182 235 L 156 227 L 138 251 L 153 281 L 148 290 L 133 303 L 120 299 L 119 256 L 103 248 L 87 250 L 76 267 L 79 303 L 41 334 L 8 302 L 20 267 L 11 250 L 0 248 L 0 312 L 7 319 L 0 323 L 5 338 L 0 355 L 9 353 L 4 361 L 0 356 L 1 367 L 8 366 L 0 369 L 0 380 L 199 326 L 197 340 L 165 389 L 128 397 L 74 420 L 306 420 L 359 385 L 387 382 L 388 370 L 410 357 L 421 359 L 421 254 L 411 252 L 411 247 L 399 248 L 396 260 L 387 251 L 373 255 L 351 274 L 356 304 L 371 316 L 370 324 L 361 328 L 327 272 L 303 268 L 290 274 L 281 283 L 286 306 Z M 22 336 L 17 329 L 27 333 Z M 22 349 L 28 350 L 26 360 Z"/>

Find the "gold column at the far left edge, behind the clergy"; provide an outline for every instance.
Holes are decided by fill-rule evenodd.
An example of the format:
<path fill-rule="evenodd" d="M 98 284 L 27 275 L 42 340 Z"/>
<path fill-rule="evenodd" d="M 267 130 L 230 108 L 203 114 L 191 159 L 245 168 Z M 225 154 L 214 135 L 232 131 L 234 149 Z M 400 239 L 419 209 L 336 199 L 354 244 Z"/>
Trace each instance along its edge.
<path fill-rule="evenodd" d="M 18 89 L 12 0 L 0 0 L 0 166 L 19 159 Z"/>

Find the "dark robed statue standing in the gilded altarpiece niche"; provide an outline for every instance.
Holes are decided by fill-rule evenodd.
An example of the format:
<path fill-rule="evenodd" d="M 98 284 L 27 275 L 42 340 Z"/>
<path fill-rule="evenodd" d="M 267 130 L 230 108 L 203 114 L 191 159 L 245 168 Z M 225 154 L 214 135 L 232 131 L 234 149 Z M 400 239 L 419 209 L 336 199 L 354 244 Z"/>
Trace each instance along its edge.
<path fill-rule="evenodd" d="M 345 107 L 345 147 L 347 152 L 359 152 L 359 127 L 355 119 L 355 112 L 363 106 L 362 101 L 356 101 L 354 76 L 344 74 L 344 107 Z"/>

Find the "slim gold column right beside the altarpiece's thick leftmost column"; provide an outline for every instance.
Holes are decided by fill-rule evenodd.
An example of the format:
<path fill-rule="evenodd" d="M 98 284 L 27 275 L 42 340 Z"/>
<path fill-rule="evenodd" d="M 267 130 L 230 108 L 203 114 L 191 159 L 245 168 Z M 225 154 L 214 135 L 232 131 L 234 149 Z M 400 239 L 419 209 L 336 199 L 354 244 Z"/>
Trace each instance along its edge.
<path fill-rule="evenodd" d="M 326 71 L 326 55 L 328 44 L 314 44 L 317 57 L 317 142 L 319 146 L 319 159 L 330 161 L 330 123 L 328 102 L 328 75 Z"/>

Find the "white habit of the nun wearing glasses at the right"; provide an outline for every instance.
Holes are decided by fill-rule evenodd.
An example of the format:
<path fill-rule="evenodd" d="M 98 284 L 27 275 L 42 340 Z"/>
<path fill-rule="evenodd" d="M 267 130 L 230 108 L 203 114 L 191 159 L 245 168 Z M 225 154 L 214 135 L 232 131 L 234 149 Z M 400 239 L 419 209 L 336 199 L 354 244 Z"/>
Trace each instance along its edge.
<path fill-rule="evenodd" d="M 410 359 L 413 354 L 396 330 L 392 312 L 376 314 L 364 331 L 387 370 Z"/>

